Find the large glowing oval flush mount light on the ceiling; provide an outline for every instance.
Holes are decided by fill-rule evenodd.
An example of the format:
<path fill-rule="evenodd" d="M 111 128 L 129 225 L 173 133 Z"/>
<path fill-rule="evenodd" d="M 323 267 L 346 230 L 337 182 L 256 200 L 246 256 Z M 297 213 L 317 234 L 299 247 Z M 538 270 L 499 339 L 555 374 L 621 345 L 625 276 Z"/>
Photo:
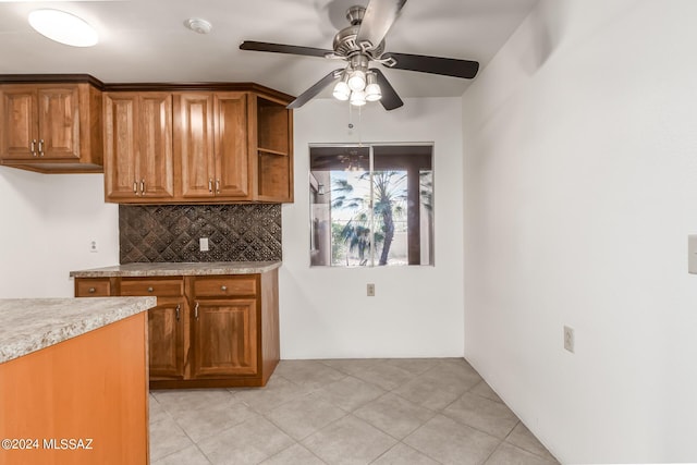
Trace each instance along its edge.
<path fill-rule="evenodd" d="M 72 47 L 91 47 L 99 40 L 97 30 L 83 19 L 61 10 L 34 10 L 29 24 L 42 36 Z"/>

